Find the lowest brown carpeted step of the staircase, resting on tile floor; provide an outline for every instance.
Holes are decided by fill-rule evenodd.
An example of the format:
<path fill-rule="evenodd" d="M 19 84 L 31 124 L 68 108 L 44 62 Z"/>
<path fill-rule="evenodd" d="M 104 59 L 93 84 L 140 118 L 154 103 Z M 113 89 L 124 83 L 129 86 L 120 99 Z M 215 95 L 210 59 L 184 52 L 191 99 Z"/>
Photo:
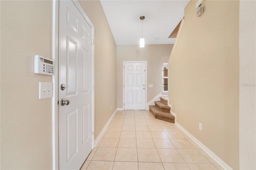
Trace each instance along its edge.
<path fill-rule="evenodd" d="M 149 111 L 153 114 L 156 119 L 175 123 L 175 117 L 171 113 L 162 112 L 156 106 L 149 106 Z"/>

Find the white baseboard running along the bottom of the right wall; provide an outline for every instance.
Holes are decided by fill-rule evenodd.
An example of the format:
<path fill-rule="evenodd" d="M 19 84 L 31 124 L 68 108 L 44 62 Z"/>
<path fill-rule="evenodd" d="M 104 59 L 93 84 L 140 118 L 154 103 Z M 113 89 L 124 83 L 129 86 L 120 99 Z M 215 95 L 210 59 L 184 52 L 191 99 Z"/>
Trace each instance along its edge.
<path fill-rule="evenodd" d="M 224 170 L 232 170 L 228 164 L 226 164 L 222 159 L 220 159 L 214 152 L 212 152 L 209 148 L 207 148 L 202 142 L 200 142 L 196 137 L 194 137 L 190 132 L 188 132 L 184 127 L 182 127 L 178 122 L 176 122 L 176 114 L 172 112 L 175 116 L 175 125 L 179 127 L 186 135 L 188 135 L 198 146 L 200 146 L 209 156 L 212 157 Z"/>

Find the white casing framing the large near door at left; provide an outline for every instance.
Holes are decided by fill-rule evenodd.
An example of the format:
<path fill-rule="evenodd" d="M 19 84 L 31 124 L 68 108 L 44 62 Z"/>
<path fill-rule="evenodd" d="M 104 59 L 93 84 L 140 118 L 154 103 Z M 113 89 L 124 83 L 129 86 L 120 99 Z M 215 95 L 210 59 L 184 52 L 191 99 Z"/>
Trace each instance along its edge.
<path fill-rule="evenodd" d="M 94 25 L 77 0 L 71 0 L 86 22 L 92 28 L 92 149 L 94 148 Z M 52 1 L 52 59 L 55 63 L 55 75 L 52 76 L 52 169 L 59 169 L 59 138 L 58 138 L 58 46 L 59 46 L 59 0 Z"/>

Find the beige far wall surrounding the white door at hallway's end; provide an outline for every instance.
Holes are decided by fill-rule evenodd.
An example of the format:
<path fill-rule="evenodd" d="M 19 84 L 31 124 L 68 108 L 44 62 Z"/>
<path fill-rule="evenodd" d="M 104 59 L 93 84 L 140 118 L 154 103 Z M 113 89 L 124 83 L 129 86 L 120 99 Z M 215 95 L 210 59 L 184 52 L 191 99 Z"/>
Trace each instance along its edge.
<path fill-rule="evenodd" d="M 168 45 L 117 45 L 116 76 L 117 76 L 117 107 L 122 108 L 123 101 L 123 61 L 147 61 L 147 102 L 162 92 L 162 65 L 168 62 L 173 44 Z"/>

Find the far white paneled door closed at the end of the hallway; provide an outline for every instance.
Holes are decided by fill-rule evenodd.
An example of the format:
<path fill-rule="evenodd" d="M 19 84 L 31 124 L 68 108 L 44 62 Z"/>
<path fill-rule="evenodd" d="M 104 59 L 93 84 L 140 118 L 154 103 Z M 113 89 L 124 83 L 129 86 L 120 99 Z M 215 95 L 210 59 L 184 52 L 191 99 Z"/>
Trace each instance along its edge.
<path fill-rule="evenodd" d="M 124 62 L 124 110 L 146 109 L 146 62 Z"/>

